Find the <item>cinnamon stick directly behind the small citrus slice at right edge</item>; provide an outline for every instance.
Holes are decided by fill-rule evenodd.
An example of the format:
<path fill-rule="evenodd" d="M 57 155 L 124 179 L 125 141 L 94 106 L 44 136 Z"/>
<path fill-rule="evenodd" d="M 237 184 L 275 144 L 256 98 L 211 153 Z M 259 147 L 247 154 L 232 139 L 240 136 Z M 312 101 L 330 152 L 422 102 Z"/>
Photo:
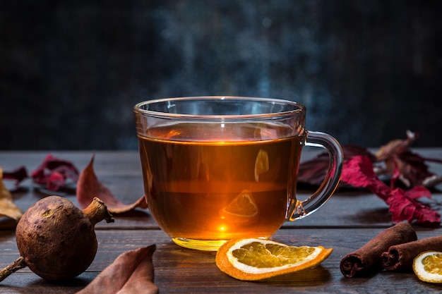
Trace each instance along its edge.
<path fill-rule="evenodd" d="M 414 257 L 429 250 L 442 251 L 442 235 L 390 246 L 381 255 L 382 267 L 388 271 L 410 269 Z"/>

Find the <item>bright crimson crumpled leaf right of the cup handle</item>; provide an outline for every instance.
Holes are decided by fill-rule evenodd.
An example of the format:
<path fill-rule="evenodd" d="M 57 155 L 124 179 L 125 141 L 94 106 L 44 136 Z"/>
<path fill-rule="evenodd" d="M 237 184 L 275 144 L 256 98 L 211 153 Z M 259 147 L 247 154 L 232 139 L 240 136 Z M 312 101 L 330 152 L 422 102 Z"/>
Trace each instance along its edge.
<path fill-rule="evenodd" d="M 418 202 L 421 197 L 431 198 L 431 193 L 424 187 L 416 187 L 404 191 L 400 188 L 391 189 L 383 183 L 373 171 L 373 164 L 367 157 L 357 156 L 345 161 L 341 180 L 354 187 L 367 188 L 378 195 L 389 206 L 392 221 L 414 220 L 422 226 L 438 226 L 441 215 L 425 204 Z"/>

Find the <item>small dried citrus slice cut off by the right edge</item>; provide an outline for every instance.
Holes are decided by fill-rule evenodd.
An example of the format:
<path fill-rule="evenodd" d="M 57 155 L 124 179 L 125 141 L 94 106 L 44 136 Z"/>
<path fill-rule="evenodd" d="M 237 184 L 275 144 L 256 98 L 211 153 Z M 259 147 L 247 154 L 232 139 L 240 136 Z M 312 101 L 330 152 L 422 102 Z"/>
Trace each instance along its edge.
<path fill-rule="evenodd" d="M 422 252 L 413 261 L 414 274 L 419 280 L 429 283 L 442 283 L 442 252 Z"/>

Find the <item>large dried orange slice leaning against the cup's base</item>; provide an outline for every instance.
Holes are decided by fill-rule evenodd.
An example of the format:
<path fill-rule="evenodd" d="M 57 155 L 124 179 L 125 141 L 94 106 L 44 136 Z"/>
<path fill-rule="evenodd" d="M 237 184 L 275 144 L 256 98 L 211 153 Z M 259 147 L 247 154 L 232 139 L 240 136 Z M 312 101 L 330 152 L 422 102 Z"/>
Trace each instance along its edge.
<path fill-rule="evenodd" d="M 217 251 L 217 267 L 234 278 L 256 281 L 321 264 L 333 251 L 322 246 L 289 246 L 260 238 L 232 239 Z"/>

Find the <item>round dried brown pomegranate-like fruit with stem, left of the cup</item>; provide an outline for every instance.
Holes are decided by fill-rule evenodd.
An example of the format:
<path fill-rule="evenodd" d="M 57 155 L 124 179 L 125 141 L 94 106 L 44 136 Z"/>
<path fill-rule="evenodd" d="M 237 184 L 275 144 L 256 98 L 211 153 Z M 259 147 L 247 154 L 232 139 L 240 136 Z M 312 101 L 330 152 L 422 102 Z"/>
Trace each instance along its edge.
<path fill-rule="evenodd" d="M 98 198 L 83 210 L 64 197 L 49 196 L 38 201 L 18 221 L 20 257 L 0 271 L 0 281 L 23 267 L 49 281 L 83 273 L 97 252 L 94 226 L 103 219 L 114 221 Z"/>

